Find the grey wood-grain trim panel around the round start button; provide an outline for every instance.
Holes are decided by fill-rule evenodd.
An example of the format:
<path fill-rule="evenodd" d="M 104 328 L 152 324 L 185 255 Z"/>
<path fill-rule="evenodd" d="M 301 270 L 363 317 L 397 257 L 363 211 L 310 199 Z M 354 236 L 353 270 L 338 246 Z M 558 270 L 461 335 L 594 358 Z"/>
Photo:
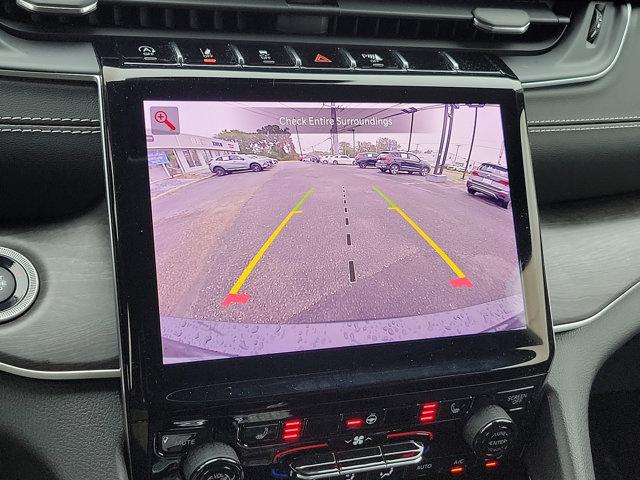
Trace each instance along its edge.
<path fill-rule="evenodd" d="M 0 245 L 40 276 L 34 305 L 0 325 L 0 362 L 33 370 L 119 368 L 118 323 L 106 205 L 36 227 L 0 227 Z"/>

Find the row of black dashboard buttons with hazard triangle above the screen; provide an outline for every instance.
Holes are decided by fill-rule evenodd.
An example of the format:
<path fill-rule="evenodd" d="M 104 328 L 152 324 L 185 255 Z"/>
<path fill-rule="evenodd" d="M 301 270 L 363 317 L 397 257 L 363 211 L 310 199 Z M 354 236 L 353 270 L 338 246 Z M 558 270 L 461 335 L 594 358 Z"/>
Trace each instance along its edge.
<path fill-rule="evenodd" d="M 287 46 L 211 40 L 118 42 L 125 65 L 499 73 L 484 54 L 380 47 Z"/>

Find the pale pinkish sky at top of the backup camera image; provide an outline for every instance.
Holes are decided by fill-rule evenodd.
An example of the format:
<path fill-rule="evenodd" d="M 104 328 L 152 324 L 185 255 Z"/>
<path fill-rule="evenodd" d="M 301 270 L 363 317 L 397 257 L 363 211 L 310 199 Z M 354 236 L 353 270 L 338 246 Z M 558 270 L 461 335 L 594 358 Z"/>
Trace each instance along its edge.
<path fill-rule="evenodd" d="M 152 106 L 178 107 L 181 133 L 215 137 L 224 130 L 255 132 L 265 125 L 280 125 L 289 128 L 296 150 L 304 152 L 330 149 L 331 119 L 330 103 L 280 103 L 280 102 L 171 102 L 145 101 L 145 121 L 151 125 L 149 109 Z M 355 128 L 338 127 L 338 140 L 351 145 L 355 130 L 356 142 L 375 144 L 380 137 L 388 137 L 399 142 L 406 149 L 409 142 L 411 114 L 403 109 L 415 108 L 411 149 L 421 151 L 437 150 L 442 131 L 443 105 L 421 103 L 343 103 L 336 102 L 336 115 L 340 121 L 349 123 L 367 119 L 369 123 Z M 461 105 L 454 114 L 450 153 L 458 151 L 459 158 L 466 160 L 473 130 L 474 109 Z M 316 125 L 309 125 L 315 119 Z M 306 121 L 306 125 L 305 122 Z M 293 123 L 299 124 L 298 135 Z M 487 105 L 478 111 L 478 126 L 472 160 L 496 162 L 502 149 L 503 134 L 500 109 L 497 105 Z M 459 145 L 459 147 L 458 147 Z M 503 162 L 504 163 L 504 162 Z"/>

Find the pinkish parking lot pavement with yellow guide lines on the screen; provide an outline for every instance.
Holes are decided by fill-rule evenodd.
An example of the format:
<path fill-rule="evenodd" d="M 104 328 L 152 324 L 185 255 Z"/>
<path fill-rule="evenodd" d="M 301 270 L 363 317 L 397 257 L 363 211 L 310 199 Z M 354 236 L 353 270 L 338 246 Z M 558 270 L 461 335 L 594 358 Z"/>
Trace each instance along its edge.
<path fill-rule="evenodd" d="M 185 187 L 153 213 L 173 318 L 345 322 L 520 294 L 511 210 L 417 175 L 281 162 Z"/>

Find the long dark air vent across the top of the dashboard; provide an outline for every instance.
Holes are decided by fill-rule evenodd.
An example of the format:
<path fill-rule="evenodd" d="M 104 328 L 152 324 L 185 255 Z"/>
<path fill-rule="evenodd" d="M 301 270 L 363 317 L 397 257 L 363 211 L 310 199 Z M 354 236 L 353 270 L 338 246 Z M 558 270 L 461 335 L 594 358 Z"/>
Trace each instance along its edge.
<path fill-rule="evenodd" d="M 282 35 L 301 41 L 446 46 L 532 53 L 551 48 L 570 23 L 572 3 L 511 0 L 100 0 L 86 15 L 34 13 L 0 0 L 0 24 L 23 35 Z M 474 25 L 474 10 L 501 8 L 530 19 L 525 32 L 504 35 Z M 326 40 L 322 40 L 326 39 Z M 288 41 L 291 41 L 288 38 Z M 295 40 L 294 40 L 295 41 Z"/>

